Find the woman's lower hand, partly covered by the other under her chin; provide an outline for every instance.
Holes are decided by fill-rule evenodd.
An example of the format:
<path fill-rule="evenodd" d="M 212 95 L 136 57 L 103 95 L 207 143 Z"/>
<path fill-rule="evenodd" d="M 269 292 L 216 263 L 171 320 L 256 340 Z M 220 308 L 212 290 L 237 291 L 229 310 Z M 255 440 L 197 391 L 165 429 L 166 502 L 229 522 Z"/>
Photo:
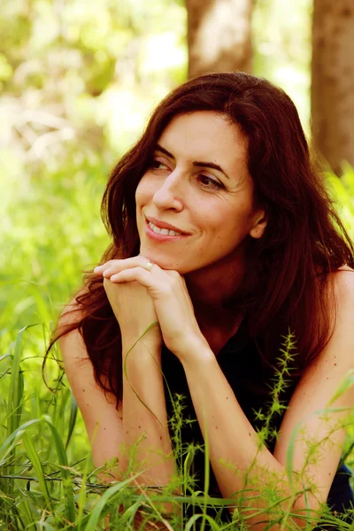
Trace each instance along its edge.
<path fill-rule="evenodd" d="M 127 260 L 111 260 L 104 266 L 96 267 L 97 274 L 112 269 L 117 271 L 119 263 L 125 263 L 125 267 L 138 266 L 139 262 L 143 265 L 147 262 L 144 258 L 128 258 Z M 158 316 L 155 311 L 153 300 L 149 291 L 138 282 L 113 283 L 109 280 L 110 275 L 104 274 L 104 289 L 112 310 L 119 322 L 122 335 L 123 348 L 129 349 L 135 341 L 150 327 L 152 323 L 157 323 Z M 162 335 L 156 324 L 150 329 L 148 334 L 144 335 L 144 344 L 155 351 L 161 349 Z"/>

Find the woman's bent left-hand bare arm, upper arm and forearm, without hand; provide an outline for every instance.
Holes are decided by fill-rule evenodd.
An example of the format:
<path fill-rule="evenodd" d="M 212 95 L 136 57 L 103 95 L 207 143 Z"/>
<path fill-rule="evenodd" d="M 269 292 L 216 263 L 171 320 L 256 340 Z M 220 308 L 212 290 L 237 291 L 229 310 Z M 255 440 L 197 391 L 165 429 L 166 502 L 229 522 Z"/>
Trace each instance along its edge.
<path fill-rule="evenodd" d="M 111 288 L 117 289 L 113 285 Z M 75 314 L 68 313 L 74 308 L 74 304 L 66 308 L 59 326 L 75 319 Z M 128 332 L 123 335 L 123 360 L 137 337 Z M 106 474 L 104 481 L 119 479 L 126 473 L 128 452 L 135 446 L 135 464 L 140 464 L 142 472 L 136 480 L 139 485 L 165 486 L 173 475 L 158 337 L 159 331 L 157 334 L 156 329 L 151 330 L 127 356 L 123 401 L 118 409 L 116 397 L 112 393 L 104 395 L 104 390 L 96 384 L 80 333 L 75 330 L 59 340 L 65 373 L 87 428 L 94 464 L 104 466 L 112 458 L 119 461 L 119 466 Z M 138 439 L 141 442 L 136 445 Z"/>

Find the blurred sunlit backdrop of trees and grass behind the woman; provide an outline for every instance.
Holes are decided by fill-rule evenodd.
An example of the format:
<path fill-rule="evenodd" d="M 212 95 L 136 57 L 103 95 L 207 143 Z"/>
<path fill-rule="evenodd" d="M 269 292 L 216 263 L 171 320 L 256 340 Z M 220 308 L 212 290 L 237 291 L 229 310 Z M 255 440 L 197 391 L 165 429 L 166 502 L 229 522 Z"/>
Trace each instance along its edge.
<path fill-rule="evenodd" d="M 0 37 L 0 411 L 32 325 L 23 412 L 50 408 L 43 352 L 107 245 L 107 174 L 189 76 L 242 70 L 285 89 L 354 235 L 352 0 L 1 0 Z"/>

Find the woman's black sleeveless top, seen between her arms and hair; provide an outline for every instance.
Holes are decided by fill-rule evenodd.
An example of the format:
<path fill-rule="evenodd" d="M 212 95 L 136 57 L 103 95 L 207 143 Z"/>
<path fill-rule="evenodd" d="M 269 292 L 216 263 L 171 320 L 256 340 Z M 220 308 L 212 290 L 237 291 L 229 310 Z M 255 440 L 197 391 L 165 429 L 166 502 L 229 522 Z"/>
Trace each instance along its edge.
<path fill-rule="evenodd" d="M 271 383 L 272 373 L 269 372 L 269 367 L 265 365 L 259 354 L 258 348 L 261 346 L 259 343 L 250 338 L 247 319 L 245 318 L 242 320 L 236 334 L 228 340 L 217 357 L 219 367 L 233 389 L 242 411 L 256 430 L 260 430 L 264 426 L 264 419 L 258 413 L 266 413 L 267 404 L 272 403 L 269 388 L 265 385 L 265 381 Z M 162 370 L 165 376 L 165 400 L 168 418 L 173 419 L 171 397 L 183 396 L 181 404 L 184 422 L 181 426 L 181 442 L 183 445 L 193 443 L 203 449 L 204 439 L 196 420 L 196 412 L 190 397 L 184 369 L 179 359 L 165 346 L 162 350 Z M 266 441 L 266 446 L 272 452 L 275 445 L 274 434 L 278 432 L 281 426 L 286 406 L 289 404 L 298 380 L 298 377 L 289 377 L 286 389 L 279 396 L 279 401 L 285 407 L 279 413 L 273 415 L 267 430 L 269 439 Z M 174 430 L 172 426 L 170 426 L 170 435 L 173 440 Z M 178 459 L 177 455 L 176 458 Z M 194 489 L 203 491 L 203 450 L 196 450 L 190 473 L 194 475 L 196 480 Z M 334 512 L 342 513 L 354 507 L 353 491 L 350 488 L 350 475 L 351 472 L 347 466 L 341 465 L 338 467 L 327 498 L 327 504 Z M 211 496 L 220 496 L 217 481 L 212 473 L 212 467 L 210 467 L 209 494 Z"/>

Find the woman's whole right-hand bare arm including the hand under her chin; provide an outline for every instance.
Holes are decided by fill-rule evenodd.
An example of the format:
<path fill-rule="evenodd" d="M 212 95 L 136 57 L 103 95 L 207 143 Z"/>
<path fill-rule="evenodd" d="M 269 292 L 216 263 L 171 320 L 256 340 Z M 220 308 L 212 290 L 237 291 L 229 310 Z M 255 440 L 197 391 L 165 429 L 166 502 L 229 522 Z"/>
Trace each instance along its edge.
<path fill-rule="evenodd" d="M 252 527 L 257 529 L 266 529 L 269 521 L 274 521 L 265 492 L 275 492 L 278 503 L 281 503 L 279 496 L 288 496 L 281 504 L 281 509 L 296 514 L 289 521 L 290 525 L 303 527 L 304 521 L 299 517 L 306 516 L 307 501 L 305 496 L 296 494 L 293 485 L 297 483 L 302 487 L 296 481 L 300 476 L 301 480 L 304 479 L 305 488 L 312 487 L 312 493 L 308 496 L 312 513 L 319 508 L 320 503 L 326 501 L 345 435 L 345 428 L 341 426 L 342 415 L 348 413 L 354 404 L 354 392 L 349 389 L 335 401 L 334 406 L 342 408 L 341 413 L 327 412 L 324 415 L 319 412 L 326 409 L 336 387 L 354 365 L 352 273 L 341 272 L 335 275 L 338 313 L 334 335 L 317 362 L 308 367 L 297 386 L 284 416 L 274 455 L 266 446 L 259 446 L 257 434 L 219 369 L 219 364 L 196 323 L 188 289 L 181 275 L 162 270 L 157 265 L 148 273 L 137 267 L 121 270 L 118 264 L 115 270 L 112 268 L 110 278 L 119 285 L 136 281 L 149 290 L 165 344 L 184 366 L 196 415 L 204 437 L 208 438 L 212 467 L 222 495 L 234 496 L 246 487 L 251 491 L 250 496 L 258 496 L 251 504 L 246 499 L 244 508 L 234 498 L 238 509 L 248 517 Z M 291 436 L 298 424 L 304 426 L 305 432 L 307 428 L 307 434 L 310 427 L 310 444 L 319 446 L 322 454 L 319 453 L 318 458 L 313 459 L 307 445 L 308 439 L 304 441 L 303 432 L 297 434 L 294 441 L 293 473 L 289 477 L 286 456 Z M 225 466 L 225 462 L 228 466 Z M 299 489 L 296 490 L 298 492 Z M 260 515 L 260 512 L 263 514 Z M 273 528 L 285 527 L 276 525 Z"/>

